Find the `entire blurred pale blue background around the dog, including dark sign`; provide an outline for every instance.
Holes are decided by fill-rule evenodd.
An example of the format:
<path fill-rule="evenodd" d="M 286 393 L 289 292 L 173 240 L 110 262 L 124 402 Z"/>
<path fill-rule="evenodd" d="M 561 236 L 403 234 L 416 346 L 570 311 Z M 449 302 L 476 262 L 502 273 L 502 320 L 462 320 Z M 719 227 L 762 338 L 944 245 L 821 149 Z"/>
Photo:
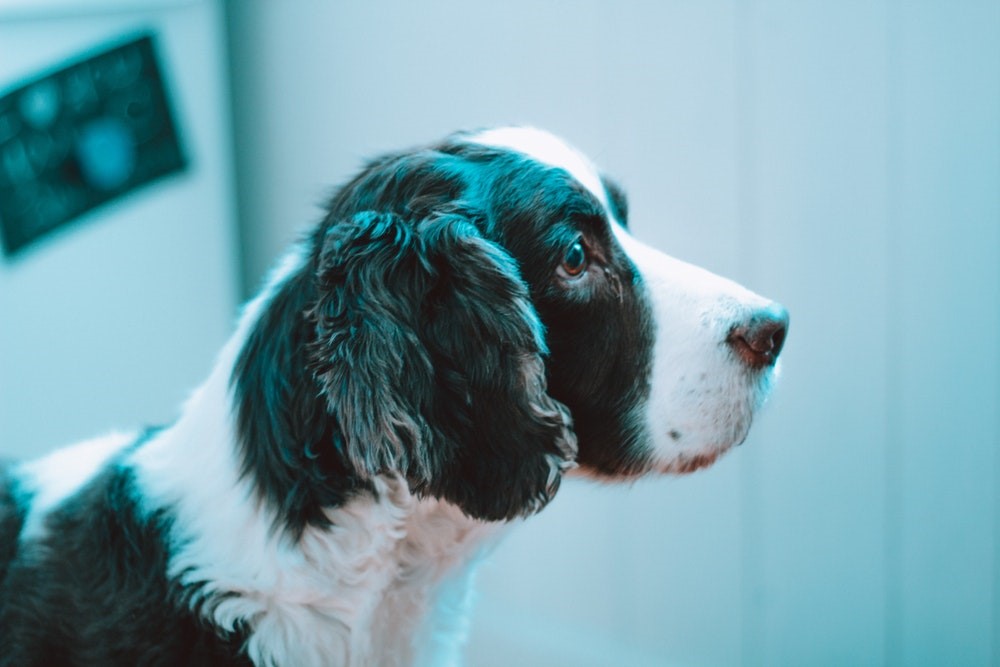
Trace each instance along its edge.
<path fill-rule="evenodd" d="M 997 1 L 0 0 L 0 455 L 170 420 L 335 184 L 499 123 L 792 326 L 739 450 L 501 544 L 468 663 L 1000 665 Z"/>

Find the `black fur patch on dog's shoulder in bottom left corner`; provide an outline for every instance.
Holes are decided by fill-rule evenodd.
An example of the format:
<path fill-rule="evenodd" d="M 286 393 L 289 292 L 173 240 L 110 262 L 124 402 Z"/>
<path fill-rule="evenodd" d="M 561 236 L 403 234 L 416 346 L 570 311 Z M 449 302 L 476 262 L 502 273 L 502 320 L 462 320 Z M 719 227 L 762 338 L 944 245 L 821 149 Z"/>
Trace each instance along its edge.
<path fill-rule="evenodd" d="M 118 466 L 63 503 L 0 587 L 0 666 L 250 665 L 243 637 L 205 625 L 168 580 L 170 522 L 142 515 Z"/>

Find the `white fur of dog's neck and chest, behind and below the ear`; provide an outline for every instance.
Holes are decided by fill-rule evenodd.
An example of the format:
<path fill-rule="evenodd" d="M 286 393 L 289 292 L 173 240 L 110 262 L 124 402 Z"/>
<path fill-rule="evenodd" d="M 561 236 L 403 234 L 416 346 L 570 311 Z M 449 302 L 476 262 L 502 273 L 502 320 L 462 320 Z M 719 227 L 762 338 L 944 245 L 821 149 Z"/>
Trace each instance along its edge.
<path fill-rule="evenodd" d="M 436 651 L 462 644 L 474 565 L 506 524 L 382 476 L 374 493 L 325 510 L 330 526 L 276 529 L 240 475 L 230 376 L 245 326 L 181 419 L 132 457 L 147 509 L 175 517 L 168 575 L 215 625 L 249 627 L 257 664 L 438 664 Z"/>

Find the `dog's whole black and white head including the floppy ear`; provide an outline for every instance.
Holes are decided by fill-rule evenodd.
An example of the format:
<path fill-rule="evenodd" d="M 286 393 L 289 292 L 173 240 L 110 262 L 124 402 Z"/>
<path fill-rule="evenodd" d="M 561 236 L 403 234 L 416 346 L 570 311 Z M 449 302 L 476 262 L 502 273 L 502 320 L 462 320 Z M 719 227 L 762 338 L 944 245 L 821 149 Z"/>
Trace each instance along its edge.
<path fill-rule="evenodd" d="M 234 375 L 244 470 L 303 522 L 379 474 L 509 519 L 574 459 L 632 478 L 742 442 L 786 330 L 632 238 L 560 140 L 454 135 L 370 163 L 272 287 Z"/>

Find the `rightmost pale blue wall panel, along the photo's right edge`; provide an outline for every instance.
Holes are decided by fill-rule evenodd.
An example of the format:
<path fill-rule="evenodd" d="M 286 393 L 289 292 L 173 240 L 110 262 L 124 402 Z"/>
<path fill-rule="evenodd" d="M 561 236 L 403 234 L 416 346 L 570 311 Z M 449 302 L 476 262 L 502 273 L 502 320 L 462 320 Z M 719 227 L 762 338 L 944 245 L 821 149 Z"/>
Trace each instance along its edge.
<path fill-rule="evenodd" d="M 989 665 L 1000 448 L 1000 9 L 899 2 L 893 38 L 894 664 Z"/>

